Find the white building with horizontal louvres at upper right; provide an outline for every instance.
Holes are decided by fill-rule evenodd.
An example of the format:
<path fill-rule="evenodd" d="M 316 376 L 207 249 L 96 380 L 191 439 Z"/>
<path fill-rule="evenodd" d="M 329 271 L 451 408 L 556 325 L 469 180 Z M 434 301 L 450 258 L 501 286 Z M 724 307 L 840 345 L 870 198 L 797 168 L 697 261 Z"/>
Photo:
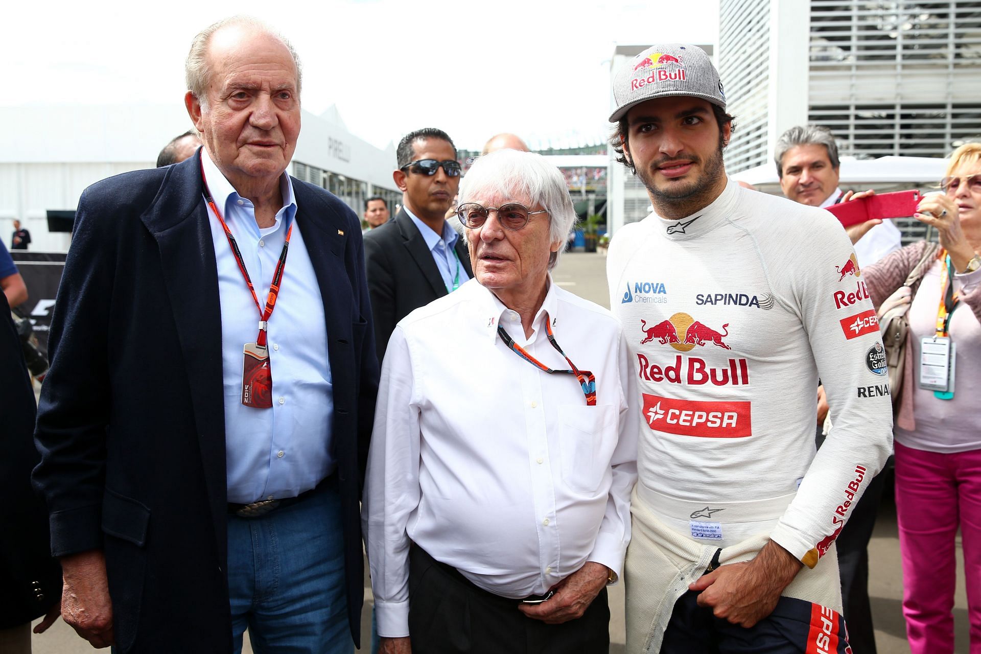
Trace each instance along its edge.
<path fill-rule="evenodd" d="M 795 125 L 843 156 L 944 157 L 981 139 L 981 2 L 720 0 L 719 74 L 736 116 L 726 170 L 772 165 Z"/>

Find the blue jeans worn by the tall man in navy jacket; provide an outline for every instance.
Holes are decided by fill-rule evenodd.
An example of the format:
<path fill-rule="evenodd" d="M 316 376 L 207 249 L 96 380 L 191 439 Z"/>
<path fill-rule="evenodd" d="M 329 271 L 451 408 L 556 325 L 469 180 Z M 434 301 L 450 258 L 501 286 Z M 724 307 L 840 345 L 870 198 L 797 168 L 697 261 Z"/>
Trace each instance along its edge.
<path fill-rule="evenodd" d="M 229 516 L 234 653 L 351 654 L 336 484 L 261 518 Z"/>

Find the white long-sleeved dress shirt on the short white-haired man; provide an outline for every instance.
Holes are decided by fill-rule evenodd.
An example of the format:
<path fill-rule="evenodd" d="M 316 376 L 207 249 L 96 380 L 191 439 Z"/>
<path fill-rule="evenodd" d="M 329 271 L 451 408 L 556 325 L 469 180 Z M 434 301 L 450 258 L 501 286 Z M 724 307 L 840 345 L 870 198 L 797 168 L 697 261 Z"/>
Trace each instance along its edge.
<path fill-rule="evenodd" d="M 548 280 L 525 338 L 518 314 L 470 280 L 415 310 L 382 368 L 362 520 L 380 635 L 408 635 L 408 550 L 496 595 L 542 594 L 588 561 L 617 575 L 630 540 L 639 412 L 608 311 Z M 543 365 L 567 370 L 545 333 L 596 381 L 511 351 L 503 326 Z"/>

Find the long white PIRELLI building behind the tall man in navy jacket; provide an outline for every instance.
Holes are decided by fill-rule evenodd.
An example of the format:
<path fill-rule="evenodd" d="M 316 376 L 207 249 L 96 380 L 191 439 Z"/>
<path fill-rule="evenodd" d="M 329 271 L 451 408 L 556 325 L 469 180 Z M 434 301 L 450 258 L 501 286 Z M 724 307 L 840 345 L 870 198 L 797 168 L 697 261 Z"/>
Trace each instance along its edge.
<path fill-rule="evenodd" d="M 48 229 L 49 216 L 71 216 L 82 190 L 100 179 L 153 168 L 161 148 L 190 127 L 180 104 L 0 107 L 0 120 L 16 126 L 0 148 L 0 236 L 6 241 L 17 219 L 30 249 L 48 251 L 71 242 L 68 232 Z M 290 175 L 327 188 L 358 216 L 372 195 L 394 211 L 402 194 L 391 178 L 393 145 L 381 150 L 354 136 L 336 111 L 304 111 L 302 125 Z"/>

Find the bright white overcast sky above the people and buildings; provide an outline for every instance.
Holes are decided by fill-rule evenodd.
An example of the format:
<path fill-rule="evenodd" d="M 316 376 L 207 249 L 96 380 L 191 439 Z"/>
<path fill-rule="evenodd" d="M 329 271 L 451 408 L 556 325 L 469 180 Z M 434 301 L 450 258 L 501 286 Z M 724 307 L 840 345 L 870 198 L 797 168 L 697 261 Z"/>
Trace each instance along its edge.
<path fill-rule="evenodd" d="M 718 0 L 28 0 L 3 11 L 0 103 L 181 103 L 191 38 L 236 13 L 292 41 L 304 109 L 336 105 L 379 147 L 421 126 L 468 149 L 498 131 L 533 147 L 594 143 L 608 130 L 616 43 L 718 39 Z"/>

